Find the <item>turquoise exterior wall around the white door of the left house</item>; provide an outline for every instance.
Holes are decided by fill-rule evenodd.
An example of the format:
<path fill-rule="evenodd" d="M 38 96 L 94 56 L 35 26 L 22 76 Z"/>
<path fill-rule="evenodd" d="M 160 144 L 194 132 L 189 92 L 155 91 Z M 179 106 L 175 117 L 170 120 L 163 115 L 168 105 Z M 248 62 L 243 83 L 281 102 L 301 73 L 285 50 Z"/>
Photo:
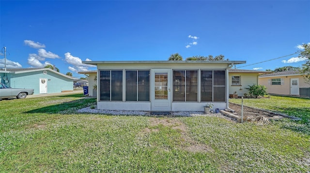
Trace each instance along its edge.
<path fill-rule="evenodd" d="M 47 79 L 47 93 L 59 93 L 62 91 L 73 90 L 73 79 L 66 78 L 59 74 L 47 71 L 8 73 L 9 87 L 14 88 L 33 88 L 34 94 L 40 93 L 40 78 Z"/>

